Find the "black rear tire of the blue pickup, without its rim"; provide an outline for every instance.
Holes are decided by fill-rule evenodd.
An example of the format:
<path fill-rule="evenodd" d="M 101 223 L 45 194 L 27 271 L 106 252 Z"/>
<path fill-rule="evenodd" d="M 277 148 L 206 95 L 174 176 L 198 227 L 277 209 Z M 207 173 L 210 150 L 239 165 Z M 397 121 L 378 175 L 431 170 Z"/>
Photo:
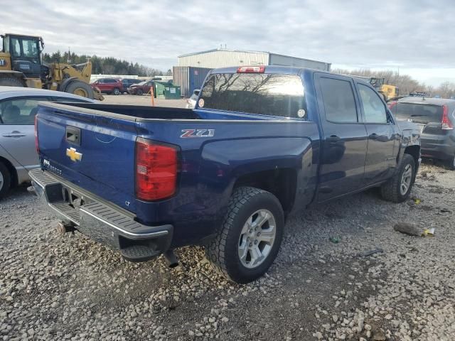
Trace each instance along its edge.
<path fill-rule="evenodd" d="M 238 251 L 240 236 L 247 220 L 258 210 L 267 210 L 272 214 L 275 221 L 275 237 L 262 263 L 256 267 L 247 268 L 240 261 Z M 269 269 L 277 257 L 282 243 L 283 229 L 284 213 L 277 197 L 258 188 L 237 188 L 230 198 L 228 212 L 218 236 L 205 246 L 205 256 L 213 269 L 230 281 L 237 283 L 254 281 Z"/>

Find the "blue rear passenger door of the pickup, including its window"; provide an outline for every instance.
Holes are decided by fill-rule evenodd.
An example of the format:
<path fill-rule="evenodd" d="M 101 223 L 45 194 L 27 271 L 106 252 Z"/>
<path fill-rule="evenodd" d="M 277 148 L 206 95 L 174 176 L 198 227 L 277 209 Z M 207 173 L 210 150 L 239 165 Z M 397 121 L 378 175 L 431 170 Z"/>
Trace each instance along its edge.
<path fill-rule="evenodd" d="M 323 158 L 318 200 L 359 190 L 368 144 L 353 80 L 315 74 L 322 127 Z"/>

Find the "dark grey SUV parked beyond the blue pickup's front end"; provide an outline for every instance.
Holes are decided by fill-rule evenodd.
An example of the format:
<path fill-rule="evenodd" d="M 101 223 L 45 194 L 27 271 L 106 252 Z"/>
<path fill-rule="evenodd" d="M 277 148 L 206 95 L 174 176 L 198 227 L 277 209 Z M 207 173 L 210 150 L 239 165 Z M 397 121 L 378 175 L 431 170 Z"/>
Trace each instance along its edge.
<path fill-rule="evenodd" d="M 389 107 L 397 120 L 421 127 L 422 157 L 443 160 L 455 170 L 455 99 L 405 97 Z"/>

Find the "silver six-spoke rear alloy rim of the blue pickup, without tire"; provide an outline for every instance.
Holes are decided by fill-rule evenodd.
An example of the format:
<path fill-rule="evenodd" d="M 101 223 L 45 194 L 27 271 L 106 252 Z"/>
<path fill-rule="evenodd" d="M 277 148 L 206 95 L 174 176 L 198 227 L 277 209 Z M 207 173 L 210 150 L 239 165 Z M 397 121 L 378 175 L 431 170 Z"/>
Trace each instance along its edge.
<path fill-rule="evenodd" d="M 257 210 L 250 215 L 240 232 L 238 254 L 245 268 L 255 269 L 262 264 L 275 242 L 277 224 L 272 212 Z"/>

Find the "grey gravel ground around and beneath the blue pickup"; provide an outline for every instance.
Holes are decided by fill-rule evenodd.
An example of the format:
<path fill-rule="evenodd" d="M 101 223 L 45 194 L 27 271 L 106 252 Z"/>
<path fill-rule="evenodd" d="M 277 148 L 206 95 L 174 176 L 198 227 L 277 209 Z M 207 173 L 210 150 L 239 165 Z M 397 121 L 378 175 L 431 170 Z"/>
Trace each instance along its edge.
<path fill-rule="evenodd" d="M 370 190 L 297 212 L 268 274 L 238 286 L 200 247 L 167 269 L 60 237 L 17 188 L 0 202 L 0 340 L 454 340 L 454 191 L 455 172 L 423 165 L 402 204 Z"/>

